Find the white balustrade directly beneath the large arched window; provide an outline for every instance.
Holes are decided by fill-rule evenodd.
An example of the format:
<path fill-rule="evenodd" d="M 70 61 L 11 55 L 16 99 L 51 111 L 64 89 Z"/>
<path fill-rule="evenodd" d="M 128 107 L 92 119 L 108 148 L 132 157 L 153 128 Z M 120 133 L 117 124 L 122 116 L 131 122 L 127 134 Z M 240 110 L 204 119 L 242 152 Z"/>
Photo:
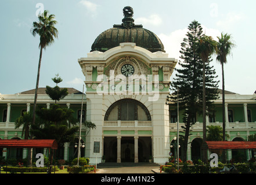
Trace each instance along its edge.
<path fill-rule="evenodd" d="M 104 121 L 103 127 L 152 127 L 152 121 Z"/>

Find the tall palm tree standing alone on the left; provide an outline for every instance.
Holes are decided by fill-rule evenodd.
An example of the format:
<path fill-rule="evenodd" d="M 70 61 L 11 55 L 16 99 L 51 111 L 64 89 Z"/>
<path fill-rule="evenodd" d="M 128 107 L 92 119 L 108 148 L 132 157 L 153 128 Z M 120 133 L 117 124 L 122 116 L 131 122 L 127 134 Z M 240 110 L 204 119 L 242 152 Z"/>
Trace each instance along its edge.
<path fill-rule="evenodd" d="M 38 16 L 39 22 L 33 22 L 33 27 L 31 28 L 31 33 L 33 36 L 39 35 L 40 42 L 40 54 L 39 54 L 39 62 L 38 62 L 38 72 L 37 72 L 37 84 L 35 86 L 35 99 L 34 99 L 34 108 L 33 108 L 33 121 L 32 124 L 35 123 L 35 109 L 37 106 L 37 91 L 38 91 L 38 83 L 39 83 L 39 74 L 42 60 L 42 50 L 46 49 L 46 46 L 51 45 L 57 38 L 58 31 L 55 28 L 55 24 L 57 23 L 54 20 L 55 15 L 48 15 L 48 11 L 45 10 L 40 16 Z"/>

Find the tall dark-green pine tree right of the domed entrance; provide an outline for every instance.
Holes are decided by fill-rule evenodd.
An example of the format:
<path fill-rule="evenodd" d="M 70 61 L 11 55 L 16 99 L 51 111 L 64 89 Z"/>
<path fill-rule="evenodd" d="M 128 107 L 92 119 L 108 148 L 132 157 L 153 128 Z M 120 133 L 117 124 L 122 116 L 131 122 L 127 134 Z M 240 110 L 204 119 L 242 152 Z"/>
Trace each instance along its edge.
<path fill-rule="evenodd" d="M 177 89 L 179 89 L 179 110 L 184 110 L 181 140 L 183 142 L 182 158 L 186 161 L 188 149 L 188 138 L 192 125 L 196 123 L 196 115 L 202 113 L 203 106 L 203 62 L 197 52 L 196 44 L 203 31 L 200 23 L 192 21 L 188 27 L 186 38 L 181 43 L 181 69 L 175 69 L 178 73 L 171 83 L 171 102 L 177 103 Z M 218 82 L 215 80 L 215 69 L 210 65 L 211 58 L 205 62 L 205 86 L 206 86 L 206 106 L 207 110 L 213 110 L 213 101 L 218 98 Z"/>

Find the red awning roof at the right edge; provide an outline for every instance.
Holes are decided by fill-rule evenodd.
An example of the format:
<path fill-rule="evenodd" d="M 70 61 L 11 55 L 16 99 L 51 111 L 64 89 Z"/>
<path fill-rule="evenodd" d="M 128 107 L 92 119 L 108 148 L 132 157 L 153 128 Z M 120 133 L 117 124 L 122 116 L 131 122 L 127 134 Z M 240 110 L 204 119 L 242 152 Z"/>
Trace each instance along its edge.
<path fill-rule="evenodd" d="M 256 149 L 250 141 L 206 141 L 208 149 Z"/>

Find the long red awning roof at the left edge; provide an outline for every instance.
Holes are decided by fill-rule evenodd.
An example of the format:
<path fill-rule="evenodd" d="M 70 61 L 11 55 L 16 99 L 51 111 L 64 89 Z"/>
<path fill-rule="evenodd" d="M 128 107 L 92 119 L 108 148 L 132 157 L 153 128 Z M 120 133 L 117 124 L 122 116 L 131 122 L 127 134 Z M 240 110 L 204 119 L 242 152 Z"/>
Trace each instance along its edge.
<path fill-rule="evenodd" d="M 55 139 L 0 139 L 0 148 L 50 148 L 57 149 Z"/>

